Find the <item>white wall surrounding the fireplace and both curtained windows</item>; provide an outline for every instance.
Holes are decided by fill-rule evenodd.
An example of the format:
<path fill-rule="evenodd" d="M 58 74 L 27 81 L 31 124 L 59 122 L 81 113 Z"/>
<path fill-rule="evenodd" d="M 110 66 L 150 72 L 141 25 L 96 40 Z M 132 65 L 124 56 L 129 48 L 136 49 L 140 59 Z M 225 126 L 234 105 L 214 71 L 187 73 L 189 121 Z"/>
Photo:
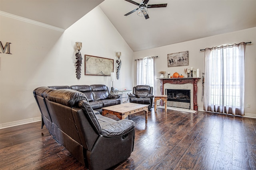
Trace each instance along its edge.
<path fill-rule="evenodd" d="M 252 44 L 246 45 L 245 54 L 245 113 L 248 116 L 256 117 L 256 27 L 244 29 L 232 33 L 196 39 L 183 43 L 167 45 L 145 51 L 134 53 L 134 59 L 144 58 L 147 56 L 158 56 L 156 59 L 156 78 L 160 77 L 159 71 L 163 70 L 173 74 L 178 72 L 184 75 L 184 68 L 199 68 L 200 76 L 204 72 L 204 52 L 200 49 L 206 47 L 219 46 L 222 44 L 233 44 L 240 42 L 250 42 Z M 167 54 L 181 51 L 188 51 L 189 65 L 188 66 L 167 66 Z M 135 62 L 134 62 L 135 64 Z M 134 82 L 136 85 L 136 68 L 134 68 Z M 156 94 L 160 94 L 160 81 L 156 79 Z M 203 110 L 202 98 L 202 80 L 198 81 L 198 109 Z M 250 108 L 246 108 L 246 104 L 250 104 Z"/>

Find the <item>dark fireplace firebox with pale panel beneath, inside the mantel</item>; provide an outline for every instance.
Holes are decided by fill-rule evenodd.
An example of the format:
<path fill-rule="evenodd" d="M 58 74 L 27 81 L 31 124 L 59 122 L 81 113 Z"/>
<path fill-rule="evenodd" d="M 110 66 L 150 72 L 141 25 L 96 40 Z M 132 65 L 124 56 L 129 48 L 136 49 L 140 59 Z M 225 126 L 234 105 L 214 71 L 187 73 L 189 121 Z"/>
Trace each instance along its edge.
<path fill-rule="evenodd" d="M 190 90 L 165 89 L 167 106 L 190 109 Z"/>

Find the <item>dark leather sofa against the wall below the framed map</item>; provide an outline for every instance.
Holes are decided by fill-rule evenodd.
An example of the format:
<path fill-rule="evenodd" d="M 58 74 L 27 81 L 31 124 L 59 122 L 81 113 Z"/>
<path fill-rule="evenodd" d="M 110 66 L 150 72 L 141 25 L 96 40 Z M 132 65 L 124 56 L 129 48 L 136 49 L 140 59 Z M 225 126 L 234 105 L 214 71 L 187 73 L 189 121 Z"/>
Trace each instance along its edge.
<path fill-rule="evenodd" d="M 112 95 L 109 92 L 108 86 L 104 84 L 94 85 L 75 85 L 75 86 L 48 86 L 54 89 L 73 89 L 82 92 L 87 97 L 90 106 L 93 110 L 102 113 L 102 107 L 121 104 L 119 95 Z"/>

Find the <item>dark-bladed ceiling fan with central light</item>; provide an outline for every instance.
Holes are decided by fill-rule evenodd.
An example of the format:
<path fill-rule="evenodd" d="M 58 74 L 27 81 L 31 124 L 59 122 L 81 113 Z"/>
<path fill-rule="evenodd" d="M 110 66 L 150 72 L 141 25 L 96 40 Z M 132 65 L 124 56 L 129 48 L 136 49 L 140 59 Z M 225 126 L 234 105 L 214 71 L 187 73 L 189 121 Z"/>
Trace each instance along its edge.
<path fill-rule="evenodd" d="M 166 7 L 167 6 L 167 4 L 151 4 L 151 5 L 149 5 L 148 4 L 149 0 L 142 0 L 142 2 L 140 4 L 137 3 L 137 2 L 134 2 L 132 0 L 125 0 L 125 1 L 130 2 L 130 3 L 134 4 L 134 5 L 137 5 L 137 6 L 139 6 L 139 8 L 136 8 L 136 9 L 132 10 L 131 12 L 128 12 L 124 16 L 128 16 L 128 15 L 130 15 L 130 14 L 132 14 L 135 11 L 138 10 L 137 11 L 138 16 L 144 16 L 146 19 L 149 18 L 149 16 L 148 16 L 148 9 L 147 8 L 161 8 L 161 7 Z"/>

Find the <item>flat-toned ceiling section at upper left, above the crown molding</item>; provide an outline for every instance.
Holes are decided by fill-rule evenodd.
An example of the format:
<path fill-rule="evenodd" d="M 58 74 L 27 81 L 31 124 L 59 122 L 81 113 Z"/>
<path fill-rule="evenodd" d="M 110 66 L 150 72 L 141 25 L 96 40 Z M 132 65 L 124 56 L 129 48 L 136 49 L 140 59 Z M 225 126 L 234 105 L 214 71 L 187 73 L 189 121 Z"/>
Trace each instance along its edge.
<path fill-rule="evenodd" d="M 0 11 L 67 29 L 104 0 L 0 0 Z"/>

